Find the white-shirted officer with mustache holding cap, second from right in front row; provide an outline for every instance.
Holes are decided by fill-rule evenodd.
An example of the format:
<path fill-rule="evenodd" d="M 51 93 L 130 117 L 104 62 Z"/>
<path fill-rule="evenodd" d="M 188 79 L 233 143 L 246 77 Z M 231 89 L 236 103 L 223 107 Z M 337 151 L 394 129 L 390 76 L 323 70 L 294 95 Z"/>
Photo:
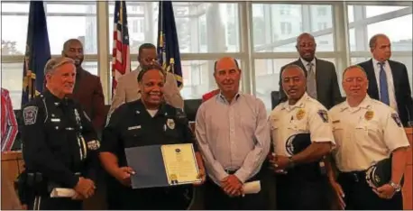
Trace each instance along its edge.
<path fill-rule="evenodd" d="M 326 107 L 307 95 L 305 73 L 297 65 L 287 66 L 281 78 L 288 101 L 277 105 L 270 115 L 277 208 L 329 209 L 329 186 L 322 160 L 335 142 Z M 295 153 L 294 143 L 289 140 L 303 134 L 307 136 L 307 148 Z"/>

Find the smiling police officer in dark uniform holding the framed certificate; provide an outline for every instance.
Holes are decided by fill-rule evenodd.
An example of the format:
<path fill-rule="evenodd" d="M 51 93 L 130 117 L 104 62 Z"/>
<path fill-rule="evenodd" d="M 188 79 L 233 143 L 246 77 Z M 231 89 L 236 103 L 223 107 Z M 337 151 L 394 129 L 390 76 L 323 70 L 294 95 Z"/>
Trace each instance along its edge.
<path fill-rule="evenodd" d="M 182 110 L 164 103 L 165 72 L 159 65 L 145 67 L 138 75 L 142 98 L 119 106 L 103 132 L 100 160 L 111 176 L 108 180 L 109 209 L 187 209 L 185 196 L 192 186 L 131 188 L 135 171 L 127 166 L 125 148 L 154 144 L 195 143 Z M 137 87 L 138 88 L 138 87 Z M 198 152 L 200 177 L 205 170 Z"/>

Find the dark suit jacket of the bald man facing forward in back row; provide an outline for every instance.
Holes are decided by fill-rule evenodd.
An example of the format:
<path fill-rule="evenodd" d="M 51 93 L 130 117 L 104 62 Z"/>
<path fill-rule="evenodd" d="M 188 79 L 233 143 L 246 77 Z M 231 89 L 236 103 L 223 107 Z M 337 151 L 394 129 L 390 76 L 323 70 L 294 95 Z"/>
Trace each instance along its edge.
<path fill-rule="evenodd" d="M 307 70 L 300 59 L 295 60 L 290 64 L 295 64 L 304 69 L 307 76 Z M 288 66 L 286 65 L 286 66 Z M 280 102 L 285 102 L 287 96 L 282 89 L 282 70 L 286 67 L 283 66 L 280 70 Z M 317 101 L 326 106 L 327 109 L 332 108 L 343 102 L 344 98 L 340 93 L 340 87 L 338 87 L 337 73 L 335 72 L 335 65 L 327 60 L 319 60 L 316 58 L 316 84 L 317 84 Z"/>

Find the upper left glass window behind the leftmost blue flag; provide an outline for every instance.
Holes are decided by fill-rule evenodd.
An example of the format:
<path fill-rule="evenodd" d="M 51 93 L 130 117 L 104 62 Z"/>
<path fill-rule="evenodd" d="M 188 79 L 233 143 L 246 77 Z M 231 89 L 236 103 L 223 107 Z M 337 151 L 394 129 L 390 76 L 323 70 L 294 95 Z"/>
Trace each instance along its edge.
<path fill-rule="evenodd" d="M 60 54 L 64 41 L 71 38 L 83 41 L 85 54 L 96 54 L 96 2 L 70 5 L 48 2 L 45 5 L 51 54 Z M 29 3 L 2 3 L 2 41 L 14 43 L 15 48 L 5 55 L 23 54 L 28 15 Z"/>

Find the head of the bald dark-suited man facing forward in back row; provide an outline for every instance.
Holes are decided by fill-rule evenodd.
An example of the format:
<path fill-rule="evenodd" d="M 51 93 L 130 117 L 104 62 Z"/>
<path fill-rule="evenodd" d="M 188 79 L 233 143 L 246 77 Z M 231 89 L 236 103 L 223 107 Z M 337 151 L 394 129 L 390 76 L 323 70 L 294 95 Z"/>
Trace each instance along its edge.
<path fill-rule="evenodd" d="M 314 39 L 313 35 L 309 33 L 301 33 L 297 38 L 297 51 L 299 56 L 303 60 L 307 60 L 308 62 L 314 60 L 316 55 L 316 40 Z"/>

